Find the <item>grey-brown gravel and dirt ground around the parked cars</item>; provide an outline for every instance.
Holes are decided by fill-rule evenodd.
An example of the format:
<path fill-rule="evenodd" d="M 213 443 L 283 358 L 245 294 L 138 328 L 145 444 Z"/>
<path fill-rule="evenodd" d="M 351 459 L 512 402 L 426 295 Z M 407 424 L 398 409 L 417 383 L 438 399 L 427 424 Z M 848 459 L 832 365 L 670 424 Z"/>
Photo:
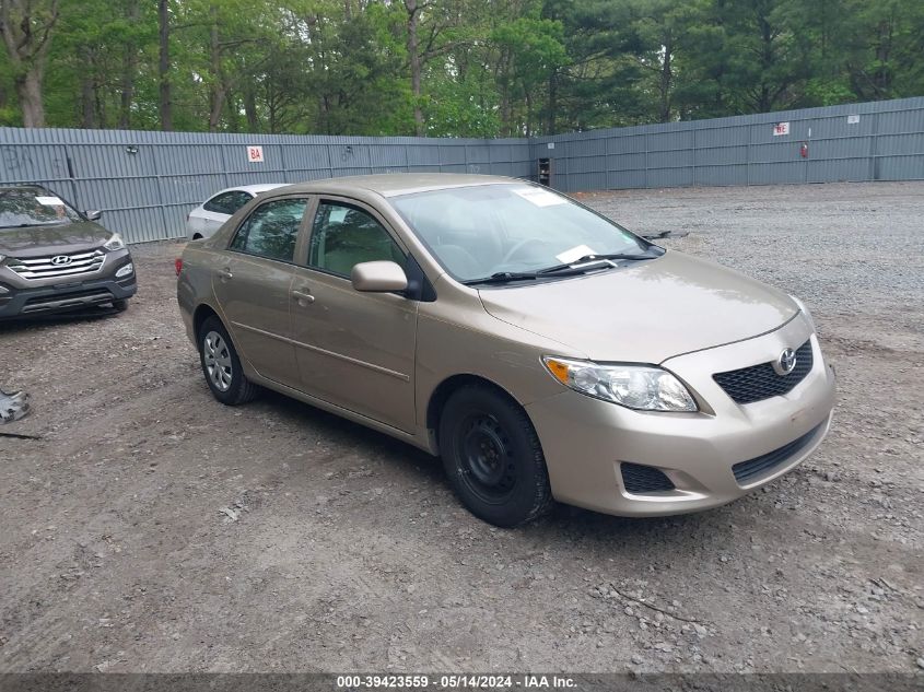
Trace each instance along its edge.
<path fill-rule="evenodd" d="M 214 401 L 173 243 L 122 315 L 0 327 L 0 671 L 924 668 L 924 183 L 582 196 L 802 295 L 826 443 L 717 511 L 475 519 L 425 454 Z"/>

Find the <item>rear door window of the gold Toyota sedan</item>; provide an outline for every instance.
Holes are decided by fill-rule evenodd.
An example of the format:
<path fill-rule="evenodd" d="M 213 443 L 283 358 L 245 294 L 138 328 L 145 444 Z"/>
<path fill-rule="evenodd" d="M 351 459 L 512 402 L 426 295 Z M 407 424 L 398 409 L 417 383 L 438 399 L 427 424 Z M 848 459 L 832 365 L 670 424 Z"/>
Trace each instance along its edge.
<path fill-rule="evenodd" d="M 257 207 L 241 224 L 231 249 L 291 262 L 306 199 L 277 199 Z"/>

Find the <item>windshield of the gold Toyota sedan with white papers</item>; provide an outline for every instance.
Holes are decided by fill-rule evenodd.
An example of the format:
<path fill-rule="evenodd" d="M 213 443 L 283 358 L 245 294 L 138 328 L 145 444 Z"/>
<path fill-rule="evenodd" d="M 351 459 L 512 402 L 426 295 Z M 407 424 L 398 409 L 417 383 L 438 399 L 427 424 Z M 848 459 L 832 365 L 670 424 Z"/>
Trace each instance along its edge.
<path fill-rule="evenodd" d="M 642 255 L 651 244 L 547 188 L 457 187 L 389 200 L 458 281 L 536 272 L 588 255 Z"/>

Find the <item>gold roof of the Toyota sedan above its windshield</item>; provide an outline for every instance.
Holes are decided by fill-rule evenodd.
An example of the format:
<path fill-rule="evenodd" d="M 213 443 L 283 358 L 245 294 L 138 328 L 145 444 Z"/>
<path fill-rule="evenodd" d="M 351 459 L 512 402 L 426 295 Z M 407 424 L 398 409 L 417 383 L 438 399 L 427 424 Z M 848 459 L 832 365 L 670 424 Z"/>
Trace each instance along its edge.
<path fill-rule="evenodd" d="M 341 178 L 325 178 L 296 183 L 285 188 L 285 192 L 355 192 L 365 190 L 382 197 L 397 197 L 412 192 L 429 192 L 453 187 L 476 185 L 521 184 L 518 178 L 500 175 L 472 175 L 464 173 L 387 173 L 379 175 L 355 175 Z"/>

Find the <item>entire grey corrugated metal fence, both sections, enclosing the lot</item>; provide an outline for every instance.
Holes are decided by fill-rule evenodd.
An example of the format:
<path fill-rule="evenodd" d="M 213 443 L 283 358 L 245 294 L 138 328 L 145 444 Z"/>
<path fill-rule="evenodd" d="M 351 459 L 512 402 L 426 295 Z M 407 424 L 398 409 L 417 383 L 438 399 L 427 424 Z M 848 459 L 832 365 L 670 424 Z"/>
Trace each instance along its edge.
<path fill-rule="evenodd" d="M 43 183 L 103 209 L 132 243 L 184 235 L 186 213 L 233 185 L 395 172 L 535 179 L 539 159 L 564 191 L 924 179 L 924 97 L 530 140 L 0 128 L 0 183 Z"/>

